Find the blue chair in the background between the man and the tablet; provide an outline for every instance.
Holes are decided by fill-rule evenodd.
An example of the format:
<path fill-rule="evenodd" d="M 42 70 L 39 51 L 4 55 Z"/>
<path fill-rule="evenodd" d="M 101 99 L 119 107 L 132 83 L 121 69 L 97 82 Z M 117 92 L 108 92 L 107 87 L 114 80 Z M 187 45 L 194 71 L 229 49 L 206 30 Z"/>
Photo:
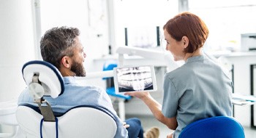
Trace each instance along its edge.
<path fill-rule="evenodd" d="M 108 60 L 103 65 L 103 71 L 113 70 L 113 68 L 116 68 L 116 67 L 117 67 L 117 62 L 115 60 Z M 108 93 L 108 95 L 110 95 L 111 97 L 118 98 L 119 117 L 121 118 L 122 121 L 124 121 L 125 120 L 124 102 L 130 100 L 132 97 L 124 94 L 116 94 L 113 77 L 103 78 L 103 80 L 106 80 L 106 92 Z"/>

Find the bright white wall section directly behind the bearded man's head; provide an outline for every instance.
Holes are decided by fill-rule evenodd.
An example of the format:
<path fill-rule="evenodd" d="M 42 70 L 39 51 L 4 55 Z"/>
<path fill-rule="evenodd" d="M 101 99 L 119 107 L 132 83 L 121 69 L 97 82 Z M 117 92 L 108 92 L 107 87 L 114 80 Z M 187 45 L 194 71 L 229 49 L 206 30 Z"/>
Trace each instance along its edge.
<path fill-rule="evenodd" d="M 105 1 L 43 0 L 40 9 L 42 35 L 50 28 L 60 26 L 80 30 L 80 41 L 87 55 L 84 66 L 86 71 L 93 71 L 93 59 L 108 54 L 108 17 Z"/>

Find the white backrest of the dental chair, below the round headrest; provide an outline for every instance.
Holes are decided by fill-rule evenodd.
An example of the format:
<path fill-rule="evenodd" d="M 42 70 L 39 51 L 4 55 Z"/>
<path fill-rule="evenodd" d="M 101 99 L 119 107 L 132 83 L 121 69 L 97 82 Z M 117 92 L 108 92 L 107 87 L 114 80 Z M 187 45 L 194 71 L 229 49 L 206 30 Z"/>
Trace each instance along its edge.
<path fill-rule="evenodd" d="M 57 123 L 43 121 L 42 128 L 42 115 L 38 113 L 39 109 L 33 108 L 21 105 L 16 112 L 18 124 L 26 137 L 113 138 L 116 134 L 113 116 L 99 107 L 74 107 L 57 117 Z"/>

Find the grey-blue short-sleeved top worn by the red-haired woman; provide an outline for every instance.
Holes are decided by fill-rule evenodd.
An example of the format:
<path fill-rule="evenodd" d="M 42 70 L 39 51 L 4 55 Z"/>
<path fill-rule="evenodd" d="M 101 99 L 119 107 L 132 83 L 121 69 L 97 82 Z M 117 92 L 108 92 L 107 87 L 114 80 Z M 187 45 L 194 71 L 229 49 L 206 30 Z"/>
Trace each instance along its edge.
<path fill-rule="evenodd" d="M 213 116 L 230 116 L 233 84 L 224 70 L 206 54 L 190 57 L 184 65 L 165 74 L 162 113 L 176 116 L 178 138 L 189 123 Z"/>

